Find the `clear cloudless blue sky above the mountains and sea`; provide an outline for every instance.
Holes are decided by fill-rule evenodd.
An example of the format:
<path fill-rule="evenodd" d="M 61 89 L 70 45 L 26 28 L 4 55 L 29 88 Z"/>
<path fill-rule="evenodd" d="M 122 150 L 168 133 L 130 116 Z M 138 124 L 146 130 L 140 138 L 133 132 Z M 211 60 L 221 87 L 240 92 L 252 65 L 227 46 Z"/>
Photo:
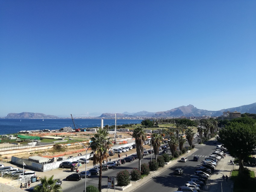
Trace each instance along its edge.
<path fill-rule="evenodd" d="M 0 117 L 256 102 L 256 1 L 0 2 Z"/>

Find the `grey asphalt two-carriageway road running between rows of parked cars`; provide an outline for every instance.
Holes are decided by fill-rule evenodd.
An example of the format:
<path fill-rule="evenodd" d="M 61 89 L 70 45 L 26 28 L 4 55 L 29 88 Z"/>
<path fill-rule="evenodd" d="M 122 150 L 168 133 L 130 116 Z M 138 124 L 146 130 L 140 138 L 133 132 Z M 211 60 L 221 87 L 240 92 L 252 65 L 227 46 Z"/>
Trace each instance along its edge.
<path fill-rule="evenodd" d="M 196 142 L 197 142 L 197 138 L 194 140 L 193 143 L 196 143 Z M 188 145 L 187 142 L 184 146 L 186 145 Z M 161 175 L 148 181 L 146 184 L 144 184 L 142 187 L 139 187 L 135 191 L 136 192 L 144 192 L 144 191 L 148 192 L 148 191 L 154 191 L 154 190 L 156 191 L 161 190 L 161 192 L 176 191 L 179 186 L 184 185 L 185 182 L 188 181 L 189 175 L 194 174 L 195 166 L 200 165 L 200 162 L 192 161 L 193 157 L 195 155 L 209 156 L 214 150 L 215 146 L 216 145 L 213 144 L 213 141 L 210 141 L 209 144 L 205 146 L 196 145 L 195 148 L 197 148 L 198 150 L 187 157 L 189 161 L 187 161 L 186 163 L 177 162 L 177 164 L 175 166 L 172 166 L 171 169 L 167 169 L 166 171 L 162 172 Z M 152 154 L 152 158 L 155 158 L 154 154 Z M 142 159 L 142 163 L 148 163 L 150 160 L 151 160 L 151 155 L 149 154 L 148 156 L 144 156 L 144 159 Z M 200 157 L 200 160 L 204 160 L 204 157 Z M 115 177 L 118 172 L 124 169 L 127 169 L 130 172 L 133 168 L 138 168 L 138 166 L 139 166 L 138 159 L 135 159 L 131 163 L 127 162 L 114 169 L 110 168 L 107 171 L 102 171 L 101 188 L 107 188 L 108 177 L 111 177 L 111 176 Z M 184 170 L 183 175 L 181 176 L 173 175 L 173 171 L 177 167 L 182 168 Z M 94 185 L 95 187 L 98 187 L 98 175 L 92 175 L 90 178 L 86 178 L 86 186 L 88 185 Z M 61 187 L 63 192 L 69 192 L 69 191 L 82 192 L 85 187 L 85 178 L 81 179 L 80 181 L 63 182 Z"/>

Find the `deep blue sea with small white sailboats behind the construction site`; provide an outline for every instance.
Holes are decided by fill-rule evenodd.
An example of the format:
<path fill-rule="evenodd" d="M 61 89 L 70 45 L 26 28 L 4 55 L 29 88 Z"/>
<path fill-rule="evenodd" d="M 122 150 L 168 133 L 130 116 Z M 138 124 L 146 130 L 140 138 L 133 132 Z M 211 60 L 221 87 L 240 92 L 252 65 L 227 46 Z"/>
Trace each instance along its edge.
<path fill-rule="evenodd" d="M 137 124 L 143 119 L 117 119 L 117 125 Z M 74 119 L 75 125 L 79 128 L 100 127 L 101 119 Z M 115 119 L 104 119 L 103 126 L 115 125 Z M 18 133 L 30 130 L 58 130 L 63 127 L 72 127 L 72 119 L 0 119 L 0 135 Z"/>

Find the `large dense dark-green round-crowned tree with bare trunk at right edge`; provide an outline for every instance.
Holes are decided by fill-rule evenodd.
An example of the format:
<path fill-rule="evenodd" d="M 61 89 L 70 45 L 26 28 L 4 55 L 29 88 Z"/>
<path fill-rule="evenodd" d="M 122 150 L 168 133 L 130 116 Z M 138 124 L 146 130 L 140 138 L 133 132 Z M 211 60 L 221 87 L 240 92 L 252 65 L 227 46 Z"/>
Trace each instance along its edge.
<path fill-rule="evenodd" d="M 239 160 L 239 174 L 243 175 L 243 159 L 250 155 L 256 146 L 256 127 L 244 123 L 232 122 L 219 131 L 219 141 L 230 155 Z"/>

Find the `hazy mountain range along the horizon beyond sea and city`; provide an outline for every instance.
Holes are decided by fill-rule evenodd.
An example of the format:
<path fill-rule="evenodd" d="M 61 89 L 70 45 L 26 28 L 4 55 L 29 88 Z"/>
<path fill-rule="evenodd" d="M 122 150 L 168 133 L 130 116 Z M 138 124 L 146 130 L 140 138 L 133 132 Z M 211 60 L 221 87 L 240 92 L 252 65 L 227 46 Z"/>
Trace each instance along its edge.
<path fill-rule="evenodd" d="M 240 107 L 232 107 L 229 109 L 222 109 L 218 111 L 208 111 L 208 110 L 202 110 L 202 109 L 197 109 L 193 105 L 188 105 L 188 106 L 181 106 L 181 107 L 176 107 L 171 110 L 167 111 L 160 111 L 160 112 L 147 112 L 147 111 L 141 111 L 137 113 L 116 113 L 117 118 L 138 118 L 138 117 L 146 117 L 146 118 L 166 118 L 166 117 L 191 117 L 191 116 L 196 116 L 196 117 L 201 117 L 201 116 L 221 116 L 224 111 L 239 111 L 241 114 L 243 113 L 256 113 L 256 103 L 249 104 L 249 105 L 242 105 Z M 101 116 L 97 116 L 96 118 L 114 118 L 115 113 L 102 113 Z M 9 113 L 6 117 L 6 119 L 28 119 L 28 118 L 59 118 L 57 116 L 53 115 L 45 115 L 43 113 L 28 113 L 28 112 L 23 112 L 23 113 Z M 82 117 L 80 117 L 82 118 Z"/>

